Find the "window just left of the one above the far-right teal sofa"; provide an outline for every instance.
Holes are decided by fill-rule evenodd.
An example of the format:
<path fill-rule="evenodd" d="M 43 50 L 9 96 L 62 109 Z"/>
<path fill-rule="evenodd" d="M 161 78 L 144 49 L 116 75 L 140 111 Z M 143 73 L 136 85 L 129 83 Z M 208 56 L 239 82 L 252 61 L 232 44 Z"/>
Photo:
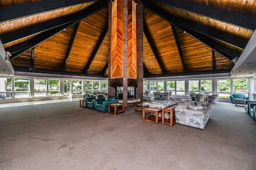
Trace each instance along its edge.
<path fill-rule="evenodd" d="M 229 98 L 231 95 L 230 79 L 218 80 L 217 87 L 219 98 Z"/>

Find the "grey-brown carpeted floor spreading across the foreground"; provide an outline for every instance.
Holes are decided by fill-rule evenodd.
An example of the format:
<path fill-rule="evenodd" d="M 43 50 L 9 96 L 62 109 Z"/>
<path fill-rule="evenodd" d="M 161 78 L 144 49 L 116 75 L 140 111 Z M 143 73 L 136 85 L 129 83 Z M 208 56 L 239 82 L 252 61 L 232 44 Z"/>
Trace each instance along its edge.
<path fill-rule="evenodd" d="M 113 115 L 79 101 L 0 108 L 1 170 L 256 169 L 256 122 L 232 103 L 212 104 L 204 130 Z"/>

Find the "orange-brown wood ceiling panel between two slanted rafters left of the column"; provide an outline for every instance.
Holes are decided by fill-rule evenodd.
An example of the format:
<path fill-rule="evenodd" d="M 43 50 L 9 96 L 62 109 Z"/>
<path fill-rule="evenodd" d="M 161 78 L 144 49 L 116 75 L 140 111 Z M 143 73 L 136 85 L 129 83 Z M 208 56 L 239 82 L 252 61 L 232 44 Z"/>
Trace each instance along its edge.
<path fill-rule="evenodd" d="M 108 23 L 108 8 L 102 9 L 80 22 L 76 33 L 68 62 L 66 72 L 86 74 L 85 68 L 90 64 L 90 57 Z M 91 70 L 93 71 L 93 70 Z"/>

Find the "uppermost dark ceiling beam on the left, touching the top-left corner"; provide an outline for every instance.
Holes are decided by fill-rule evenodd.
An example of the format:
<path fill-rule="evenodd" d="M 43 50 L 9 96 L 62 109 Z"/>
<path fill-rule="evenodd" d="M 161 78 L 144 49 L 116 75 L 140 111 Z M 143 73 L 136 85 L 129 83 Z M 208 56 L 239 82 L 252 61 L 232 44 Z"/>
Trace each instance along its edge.
<path fill-rule="evenodd" d="M 7 6 L 1 8 L 0 23 L 94 1 L 96 0 L 42 0 Z"/>

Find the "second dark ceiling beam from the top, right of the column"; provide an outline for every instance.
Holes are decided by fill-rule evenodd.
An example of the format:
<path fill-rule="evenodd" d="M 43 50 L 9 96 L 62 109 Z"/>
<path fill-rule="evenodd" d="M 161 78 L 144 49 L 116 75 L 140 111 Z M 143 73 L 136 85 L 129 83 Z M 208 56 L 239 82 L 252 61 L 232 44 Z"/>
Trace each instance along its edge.
<path fill-rule="evenodd" d="M 196 32 L 202 33 L 224 43 L 228 43 L 236 48 L 244 49 L 248 43 L 248 41 L 245 41 L 238 37 L 234 37 L 232 35 L 228 35 L 226 33 L 222 33 L 220 31 L 216 31 L 215 29 L 212 29 L 210 27 L 206 27 L 197 23 L 192 23 L 190 21 L 186 21 L 175 16 L 172 16 L 168 14 L 168 12 L 166 12 L 164 9 L 160 8 L 159 6 L 156 6 L 153 2 L 146 1 L 145 7 L 152 11 L 154 14 L 157 14 L 158 16 L 164 18 L 165 20 L 171 23 L 182 25 L 184 27 L 187 27 L 189 29 L 192 29 Z"/>

